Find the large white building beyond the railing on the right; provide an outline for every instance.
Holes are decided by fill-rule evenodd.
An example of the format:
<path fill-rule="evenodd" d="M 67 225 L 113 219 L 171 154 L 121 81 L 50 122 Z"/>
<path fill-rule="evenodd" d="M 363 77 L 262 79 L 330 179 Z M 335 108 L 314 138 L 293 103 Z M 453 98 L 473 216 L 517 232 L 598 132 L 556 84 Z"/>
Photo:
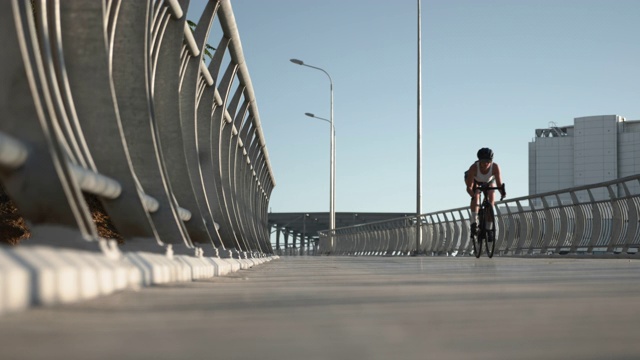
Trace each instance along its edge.
<path fill-rule="evenodd" d="M 536 130 L 529 143 L 530 195 L 635 174 L 640 174 L 640 120 L 575 118 L 573 125 Z M 604 191 L 594 192 L 596 200 L 606 197 Z"/>

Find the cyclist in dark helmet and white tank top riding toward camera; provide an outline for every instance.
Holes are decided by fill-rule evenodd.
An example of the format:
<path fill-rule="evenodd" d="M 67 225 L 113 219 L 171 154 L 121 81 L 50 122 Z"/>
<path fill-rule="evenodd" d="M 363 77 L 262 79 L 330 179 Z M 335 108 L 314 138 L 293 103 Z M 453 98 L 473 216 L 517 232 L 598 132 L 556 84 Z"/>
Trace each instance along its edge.
<path fill-rule="evenodd" d="M 464 181 L 467 185 L 467 193 L 471 196 L 471 234 L 475 236 L 478 229 L 478 208 L 480 207 L 480 192 L 476 190 L 476 187 L 483 184 L 500 187 L 502 198 L 507 195 L 502 187 L 500 166 L 493 162 L 491 149 L 478 150 L 478 161 L 474 162 L 465 172 Z M 494 192 L 494 190 L 489 190 L 487 193 L 491 206 L 495 206 Z"/>

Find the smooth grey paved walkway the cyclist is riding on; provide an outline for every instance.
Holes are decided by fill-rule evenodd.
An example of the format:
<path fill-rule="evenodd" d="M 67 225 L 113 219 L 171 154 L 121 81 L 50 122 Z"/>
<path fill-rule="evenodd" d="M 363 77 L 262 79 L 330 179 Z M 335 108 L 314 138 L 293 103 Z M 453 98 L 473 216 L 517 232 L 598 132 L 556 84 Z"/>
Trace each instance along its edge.
<path fill-rule="evenodd" d="M 9 359 L 637 359 L 640 261 L 283 257 L 0 318 Z"/>

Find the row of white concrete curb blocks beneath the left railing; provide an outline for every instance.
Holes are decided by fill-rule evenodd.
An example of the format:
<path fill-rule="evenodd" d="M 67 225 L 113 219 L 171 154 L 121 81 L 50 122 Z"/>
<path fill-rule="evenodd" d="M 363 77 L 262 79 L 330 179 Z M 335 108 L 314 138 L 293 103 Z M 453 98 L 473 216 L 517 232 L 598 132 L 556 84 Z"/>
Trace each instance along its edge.
<path fill-rule="evenodd" d="M 31 305 L 69 303 L 152 284 L 226 275 L 278 258 L 220 259 L 130 252 L 108 258 L 99 252 L 54 246 L 0 247 L 0 314 Z"/>

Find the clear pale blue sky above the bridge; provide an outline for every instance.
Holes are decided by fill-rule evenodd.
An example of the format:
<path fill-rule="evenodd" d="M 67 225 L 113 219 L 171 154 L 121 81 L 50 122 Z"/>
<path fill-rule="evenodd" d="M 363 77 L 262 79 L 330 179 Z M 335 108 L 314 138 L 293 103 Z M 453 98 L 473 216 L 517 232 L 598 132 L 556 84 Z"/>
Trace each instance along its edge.
<path fill-rule="evenodd" d="M 197 21 L 204 1 L 192 1 Z M 417 1 L 232 0 L 275 173 L 273 212 L 416 211 Z M 197 15 L 196 15 L 197 14 Z M 553 121 L 640 120 L 640 0 L 422 0 L 423 212 L 468 206 L 491 147 L 528 195 L 528 143 Z M 216 39 L 217 42 L 217 39 Z"/>

